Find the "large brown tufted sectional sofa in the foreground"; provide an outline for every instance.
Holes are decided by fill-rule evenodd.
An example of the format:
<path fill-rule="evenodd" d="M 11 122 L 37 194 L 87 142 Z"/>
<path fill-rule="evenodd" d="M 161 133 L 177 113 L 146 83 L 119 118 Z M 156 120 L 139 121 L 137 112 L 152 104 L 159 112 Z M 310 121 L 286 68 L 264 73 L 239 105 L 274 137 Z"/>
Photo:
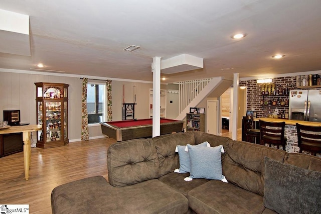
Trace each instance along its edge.
<path fill-rule="evenodd" d="M 179 155 L 175 152 L 176 146 L 197 145 L 205 141 L 209 142 L 211 147 L 223 145 L 225 153 L 222 153 L 222 170 L 228 183 L 203 178 L 187 182 L 184 178 L 189 176 L 189 173 L 174 173 L 180 166 Z M 288 204 L 280 205 L 282 201 L 291 203 L 292 196 L 295 197 L 300 193 L 290 193 L 292 199 L 274 197 L 273 188 L 277 188 L 277 185 L 266 186 L 265 177 L 269 176 L 272 179 L 275 175 L 269 171 L 268 175 L 265 174 L 266 164 L 274 168 L 283 165 L 296 167 L 290 169 L 299 170 L 296 174 L 300 174 L 300 170 L 305 170 L 304 175 L 314 173 L 312 174 L 314 183 L 311 182 L 314 186 L 304 187 L 309 183 L 304 181 L 299 185 L 302 184 L 303 189 L 320 188 L 321 158 L 286 153 L 283 150 L 233 141 L 230 138 L 202 132 L 187 132 L 111 145 L 107 154 L 109 183 L 102 176 L 96 176 L 60 185 L 52 191 L 52 211 L 53 213 L 276 213 L 275 210 L 283 212 L 283 207 L 286 207 L 287 211 L 293 208 L 297 212 L 306 212 L 311 208 L 300 206 L 297 208 L 296 205 L 288 208 Z M 286 180 L 288 176 L 281 175 L 282 171 L 283 169 L 279 168 L 276 176 L 280 176 L 280 180 L 283 176 Z M 295 176 L 294 174 L 289 178 L 291 182 L 297 180 Z M 293 185 L 295 184 L 293 182 Z M 284 190 L 281 185 L 280 194 L 289 194 L 286 188 Z M 318 192 L 314 191 L 313 194 L 310 192 L 312 211 L 321 210 Z M 307 199 L 299 200 L 305 203 Z M 277 207 L 273 207 L 277 203 Z M 304 208 L 304 211 L 301 208 Z"/>

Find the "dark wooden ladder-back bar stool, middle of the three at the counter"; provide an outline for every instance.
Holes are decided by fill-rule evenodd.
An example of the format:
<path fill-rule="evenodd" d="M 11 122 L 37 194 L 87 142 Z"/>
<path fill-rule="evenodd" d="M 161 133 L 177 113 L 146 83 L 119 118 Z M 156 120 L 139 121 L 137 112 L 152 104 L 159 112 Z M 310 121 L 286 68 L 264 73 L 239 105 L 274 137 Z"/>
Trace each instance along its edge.
<path fill-rule="evenodd" d="M 286 138 L 284 138 L 285 122 L 266 122 L 259 120 L 261 130 L 261 144 L 276 145 L 276 148 L 283 147 L 285 151 Z"/>

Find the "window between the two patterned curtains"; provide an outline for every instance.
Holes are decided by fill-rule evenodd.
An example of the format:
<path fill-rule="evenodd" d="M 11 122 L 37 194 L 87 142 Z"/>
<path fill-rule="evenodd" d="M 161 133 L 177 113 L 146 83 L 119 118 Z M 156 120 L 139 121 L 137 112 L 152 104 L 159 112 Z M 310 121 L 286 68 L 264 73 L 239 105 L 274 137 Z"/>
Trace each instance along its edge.
<path fill-rule="evenodd" d="M 106 121 L 106 84 L 87 84 L 88 124 Z"/>

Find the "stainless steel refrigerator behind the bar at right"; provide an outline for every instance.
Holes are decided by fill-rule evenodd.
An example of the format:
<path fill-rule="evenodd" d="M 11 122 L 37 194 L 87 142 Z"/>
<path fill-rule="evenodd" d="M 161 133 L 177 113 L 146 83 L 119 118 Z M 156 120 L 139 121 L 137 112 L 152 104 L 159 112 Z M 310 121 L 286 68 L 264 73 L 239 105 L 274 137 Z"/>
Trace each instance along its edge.
<path fill-rule="evenodd" d="M 289 119 L 321 122 L 321 90 L 291 90 Z"/>

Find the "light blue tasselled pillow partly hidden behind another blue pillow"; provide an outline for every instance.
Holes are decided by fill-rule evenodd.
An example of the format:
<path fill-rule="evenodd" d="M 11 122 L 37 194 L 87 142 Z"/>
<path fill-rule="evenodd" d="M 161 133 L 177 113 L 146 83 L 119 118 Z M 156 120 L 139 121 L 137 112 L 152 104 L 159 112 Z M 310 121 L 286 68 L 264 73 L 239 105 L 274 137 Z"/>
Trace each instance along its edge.
<path fill-rule="evenodd" d="M 189 144 L 188 144 L 189 145 Z M 201 144 L 192 146 L 191 147 L 206 147 L 210 146 L 210 144 L 206 141 Z M 179 173 L 187 173 L 191 172 L 191 161 L 190 161 L 190 155 L 188 152 L 186 152 L 186 147 L 187 146 L 177 146 L 177 152 L 179 153 L 179 159 L 180 159 L 180 169 L 175 170 L 175 172 Z"/>

